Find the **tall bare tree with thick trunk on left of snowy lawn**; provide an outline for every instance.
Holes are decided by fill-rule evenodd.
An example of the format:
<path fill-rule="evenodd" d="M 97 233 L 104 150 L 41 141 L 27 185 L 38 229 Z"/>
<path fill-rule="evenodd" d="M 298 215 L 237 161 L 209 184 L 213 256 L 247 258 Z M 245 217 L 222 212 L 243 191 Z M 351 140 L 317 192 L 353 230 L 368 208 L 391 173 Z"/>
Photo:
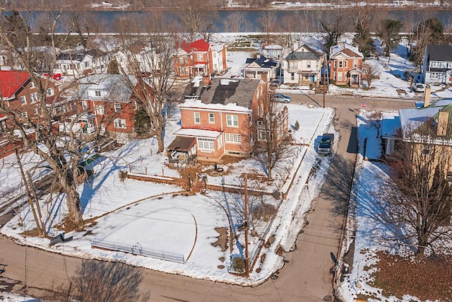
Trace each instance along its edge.
<path fill-rule="evenodd" d="M 92 153 L 98 146 L 93 141 L 101 144 L 103 139 L 100 136 L 100 129 L 89 136 L 85 136 L 80 127 L 78 130 L 69 132 L 59 129 L 57 122 L 62 125 L 63 121 L 60 120 L 61 113 L 57 112 L 57 107 L 63 100 L 74 101 L 65 95 L 65 91 L 73 89 L 78 81 L 73 79 L 63 88 L 51 78 L 59 53 L 57 45 L 66 40 L 66 37 L 57 37 L 55 34 L 61 13 L 49 13 L 47 23 L 41 23 L 40 26 L 44 27 L 46 32 L 44 39 L 36 39 L 36 35 L 28 26 L 29 16 L 29 14 L 19 14 L 5 19 L 1 16 L 0 41 L 4 49 L 8 50 L 11 57 L 15 59 L 13 66 L 20 66 L 22 71 L 30 76 L 27 84 L 35 87 L 36 93 L 30 95 L 27 105 L 34 111 L 31 111 L 31 114 L 24 112 L 25 107 L 20 105 L 20 100 L 14 100 L 16 105 L 11 103 L 13 100 L 0 100 L 0 114 L 8 117 L 7 139 L 25 151 L 36 153 L 52 168 L 54 181 L 50 199 L 54 194 L 64 193 L 69 211 L 64 223 L 66 228 L 71 229 L 80 224 L 83 219 L 82 204 L 77 192 L 78 185 L 83 181 L 81 178 L 83 169 L 80 168 L 79 163 L 83 156 Z M 44 44 L 37 44 L 37 42 Z M 42 47 L 45 47 L 49 54 L 46 62 L 47 74 L 40 74 L 42 62 L 38 53 Z M 73 105 L 70 107 L 73 110 Z M 88 110 L 78 111 L 78 115 L 67 123 L 68 128 L 76 129 L 78 117 L 86 112 Z"/>

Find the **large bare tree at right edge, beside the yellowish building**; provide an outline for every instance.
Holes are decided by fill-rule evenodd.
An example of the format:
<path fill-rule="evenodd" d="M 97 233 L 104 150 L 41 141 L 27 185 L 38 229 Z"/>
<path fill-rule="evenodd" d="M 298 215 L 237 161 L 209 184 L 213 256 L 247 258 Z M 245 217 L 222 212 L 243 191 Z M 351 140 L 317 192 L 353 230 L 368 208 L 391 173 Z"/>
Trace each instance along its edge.
<path fill-rule="evenodd" d="M 443 133 L 441 133 L 443 132 Z M 405 223 L 418 255 L 433 243 L 451 240 L 451 186 L 446 175 L 452 165 L 451 132 L 434 119 L 402 130 L 393 161 L 393 180 L 401 197 L 391 199 L 391 222 Z"/>

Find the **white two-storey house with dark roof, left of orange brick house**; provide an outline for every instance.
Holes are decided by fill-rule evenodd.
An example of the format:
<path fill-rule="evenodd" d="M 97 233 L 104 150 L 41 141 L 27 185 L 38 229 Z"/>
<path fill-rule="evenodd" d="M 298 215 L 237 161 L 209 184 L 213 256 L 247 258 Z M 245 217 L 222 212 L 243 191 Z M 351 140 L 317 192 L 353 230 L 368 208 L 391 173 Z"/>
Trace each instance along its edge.
<path fill-rule="evenodd" d="M 325 54 L 307 45 L 299 47 L 284 58 L 284 83 L 309 85 L 319 83 Z"/>

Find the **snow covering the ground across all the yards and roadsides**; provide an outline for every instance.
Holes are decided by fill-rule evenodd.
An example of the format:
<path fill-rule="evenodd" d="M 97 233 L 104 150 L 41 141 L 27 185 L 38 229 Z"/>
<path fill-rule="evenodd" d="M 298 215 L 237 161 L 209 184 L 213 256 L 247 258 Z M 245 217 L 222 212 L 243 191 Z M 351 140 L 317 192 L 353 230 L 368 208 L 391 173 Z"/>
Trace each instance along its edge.
<path fill-rule="evenodd" d="M 246 57 L 249 57 L 248 52 L 228 52 L 227 64 L 230 66 L 230 70 L 225 76 L 240 76 Z M 380 79 L 372 83 L 371 89 L 350 88 L 346 90 L 345 88 L 330 86 L 330 93 L 346 93 L 357 97 L 365 95 L 375 98 L 403 98 L 406 100 L 422 98 L 422 94 L 410 93 L 408 82 L 403 80 L 403 76 L 400 76 L 403 71 L 410 69 L 410 63 L 401 56 L 401 53 L 392 54 L 391 63 L 386 64 L 386 62 L 387 58 L 385 57 L 375 60 L 375 64 L 381 64 L 383 72 Z M 282 86 L 281 91 L 284 93 L 302 93 L 284 86 Z M 432 87 L 432 91 L 433 98 L 452 98 L 452 92 L 447 89 Z M 243 232 L 239 231 L 239 226 L 242 226 L 243 223 L 241 197 L 234 194 L 219 194 L 218 192 L 185 196 L 179 194 L 182 191 L 180 187 L 136 180 L 121 182 L 119 179 L 120 170 L 129 170 L 131 173 L 179 177 L 177 170 L 167 168 L 165 156 L 155 153 L 156 141 L 154 139 L 131 141 L 121 149 L 105 153 L 102 161 L 95 166 L 95 177 L 79 187 L 83 203 L 83 218 L 95 218 L 97 223 L 86 226 L 83 231 L 73 231 L 66 234 L 66 238 L 73 236 L 73 240 L 67 243 L 49 246 L 49 240 L 42 238 L 27 238 L 27 243 L 66 255 L 119 260 L 130 265 L 148 267 L 162 272 L 185 274 L 194 278 L 248 285 L 260 283 L 282 265 L 283 259 L 273 252 L 275 244 L 281 244 L 287 249 L 294 244 L 293 241 L 286 242 L 284 240 L 296 238 L 295 234 L 304 225 L 302 214 L 309 209 L 311 200 L 318 194 L 331 160 L 331 158 L 324 159 L 319 164 L 314 144 L 322 132 L 332 130 L 333 110 L 308 108 L 304 105 L 295 104 L 289 104 L 288 109 L 290 124 L 294 125 L 296 121 L 300 124 L 298 131 L 292 129 L 292 135 L 300 145 L 294 146 L 292 157 L 275 169 L 274 182 L 261 185 L 250 181 L 251 186 L 257 185 L 261 190 L 271 192 L 275 188 L 282 192 L 287 191 L 287 198 L 281 204 L 279 200 L 270 196 L 263 200 L 266 204 L 277 207 L 278 214 L 268 228 L 257 221 L 252 228 L 260 236 L 265 237 L 265 240 L 270 235 L 275 235 L 277 239 L 270 248 L 263 248 L 261 255 L 266 254 L 266 260 L 263 263 L 256 263 L 256 267 L 260 268 L 259 272 L 254 269 L 249 279 L 234 277 L 227 270 L 230 257 L 243 255 Z M 365 112 L 362 114 L 365 116 Z M 396 112 L 393 112 L 393 114 L 396 114 Z M 180 127 L 178 118 L 179 116 L 175 115 L 167 125 L 165 145 L 172 141 L 172 133 Z M 365 118 L 362 120 L 365 120 Z M 370 134 L 373 131 L 371 127 L 364 127 L 363 124 L 359 124 L 359 126 L 359 137 L 376 137 L 376 134 Z M 378 145 L 378 141 L 368 141 L 368 144 Z M 378 148 L 369 148 L 368 158 L 376 156 L 370 154 L 369 150 L 379 152 Z M 24 169 L 32 171 L 34 179 L 47 172 L 45 168 L 33 172 L 32 168 L 35 167 L 35 163 L 39 163 L 39 158 L 32 154 L 27 156 L 32 159 L 24 161 Z M 6 192 L 9 192 L 9 196 L 11 194 L 22 194 L 23 189 L 20 185 L 20 173 L 18 173 L 18 166 L 15 163 L 15 156 L 9 156 L 4 161 L 8 165 L 3 165 L 0 170 L 0 177 L 1 179 L 8 179 L 8 182 L 2 182 L 1 196 L 4 196 Z M 297 170 L 299 165 L 303 168 Z M 307 171 L 311 170 L 314 165 L 319 165 L 319 167 L 317 172 L 311 176 L 309 187 L 307 187 L 305 185 L 309 177 Z M 287 167 L 290 168 L 287 170 Z M 240 177 L 244 170 L 253 170 L 256 174 L 264 175 L 263 170 L 252 159 L 225 166 L 225 170 L 227 175 L 224 178 L 209 176 L 208 182 L 240 185 L 242 183 Z M 296 171 L 297 175 L 295 175 Z M 374 293 L 382 300 L 385 299 L 381 296 L 381 289 L 374 289 L 367 285 L 367 280 L 371 278 L 369 277 L 370 272 L 363 271 L 364 265 L 376 261 L 372 256 L 373 251 L 383 248 L 380 242 L 373 240 L 374 236 L 367 236 L 369 231 L 374 231 L 377 221 L 369 219 L 369 209 L 365 209 L 365 206 L 374 204 L 374 199 L 379 196 L 374 192 L 381 192 L 380 186 L 383 182 L 380 180 L 384 178 L 387 178 L 387 175 L 383 165 L 364 161 L 362 157 L 358 156 L 355 191 L 357 192 L 356 202 L 358 204 L 356 221 L 359 231 L 355 243 L 355 263 L 350 276 L 341 284 L 341 292 L 347 298 L 347 301 L 352 301 L 357 292 L 364 293 L 365 291 Z M 289 187 L 292 179 L 296 181 Z M 0 202 L 5 202 L 5 199 L 1 199 Z M 250 202 L 253 204 L 252 199 Z M 261 200 L 255 200 L 255 202 L 258 204 Z M 361 208 L 360 205 L 362 205 Z M 302 209 L 302 211 L 298 211 L 299 209 Z M 295 210 L 300 214 L 292 221 L 292 213 Z M 42 202 L 42 213 L 45 216 L 47 231 L 50 234 L 57 235 L 59 231 L 55 226 L 66 213 L 64 199 Z M 16 238 L 18 241 L 23 241 L 23 236 L 20 234 L 32 228 L 35 228 L 32 214 L 27 207 L 23 207 L 14 219 L 1 228 L 1 232 Z M 237 242 L 241 244 L 235 244 L 236 240 L 233 240 L 233 243 L 229 241 L 226 250 L 222 250 L 219 246 L 213 246 L 220 235 L 218 231 L 215 231 L 215 228 L 226 228 L 228 236 L 232 233 L 232 236 L 236 236 Z M 165 233 L 164 239 L 161 236 L 162 233 Z M 182 255 L 185 263 L 91 248 L 91 240 L 93 239 Z M 259 246 L 259 240 L 258 237 L 254 236 L 251 236 L 250 240 L 251 254 L 253 254 Z M 373 248 L 375 249 L 373 250 Z M 361 253 L 364 249 L 367 252 Z M 357 281 L 362 286 L 360 289 L 356 286 Z M 388 298 L 386 301 L 395 300 Z M 408 298 L 406 301 L 408 301 Z"/>

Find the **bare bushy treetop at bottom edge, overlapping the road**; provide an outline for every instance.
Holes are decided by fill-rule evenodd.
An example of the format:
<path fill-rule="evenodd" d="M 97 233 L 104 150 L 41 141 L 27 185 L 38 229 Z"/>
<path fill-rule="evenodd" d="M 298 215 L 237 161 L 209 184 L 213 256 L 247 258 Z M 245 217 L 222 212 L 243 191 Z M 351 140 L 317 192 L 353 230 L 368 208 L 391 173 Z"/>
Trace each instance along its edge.
<path fill-rule="evenodd" d="M 85 260 L 71 280 L 70 296 L 81 302 L 147 301 L 138 291 L 142 280 L 138 269 L 124 263 Z"/>

